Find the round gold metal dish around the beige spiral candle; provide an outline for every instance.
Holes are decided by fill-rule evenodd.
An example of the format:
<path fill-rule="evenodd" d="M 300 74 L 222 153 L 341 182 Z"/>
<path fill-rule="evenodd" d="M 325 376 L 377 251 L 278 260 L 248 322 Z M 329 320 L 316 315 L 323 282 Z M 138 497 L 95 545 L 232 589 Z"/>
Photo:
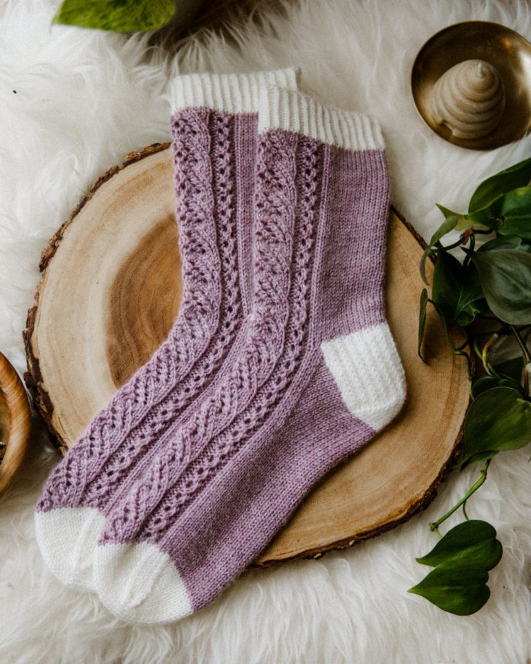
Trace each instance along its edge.
<path fill-rule="evenodd" d="M 499 124 L 481 138 L 457 138 L 431 113 L 431 94 L 439 77 L 458 62 L 485 60 L 505 86 Z M 466 21 L 440 30 L 420 49 L 411 71 L 413 101 L 422 120 L 441 138 L 472 150 L 506 145 L 531 129 L 531 44 L 510 28 L 487 21 Z"/>

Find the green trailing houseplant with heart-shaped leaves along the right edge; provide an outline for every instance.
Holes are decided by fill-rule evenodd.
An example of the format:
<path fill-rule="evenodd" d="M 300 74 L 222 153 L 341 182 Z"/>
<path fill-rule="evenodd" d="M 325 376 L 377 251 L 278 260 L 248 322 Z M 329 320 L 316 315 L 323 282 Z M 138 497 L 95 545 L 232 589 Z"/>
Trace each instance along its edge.
<path fill-rule="evenodd" d="M 445 611 L 469 615 L 490 597 L 488 573 L 501 559 L 503 547 L 496 530 L 480 519 L 469 519 L 466 504 L 487 479 L 487 470 L 500 452 L 523 448 L 531 441 L 531 158 L 481 183 L 468 212 L 445 217 L 429 241 L 420 275 L 434 257 L 431 293 L 420 295 L 418 354 L 425 354 L 427 307 L 433 306 L 445 328 L 453 353 L 467 362 L 472 403 L 464 424 L 460 469 L 480 463 L 479 477 L 445 515 L 429 524 L 440 537 L 434 548 L 416 560 L 434 569 L 409 592 Z M 443 245 L 448 233 L 458 240 Z M 481 244 L 481 246 L 480 246 Z M 461 262 L 454 251 L 463 252 Z M 456 346 L 452 326 L 462 326 L 467 340 Z M 503 344 L 514 344 L 510 359 L 496 361 Z M 476 362 L 473 362 L 476 359 Z M 478 371 L 473 371 L 473 366 Z M 441 535 L 439 526 L 462 508 L 465 521 Z"/>

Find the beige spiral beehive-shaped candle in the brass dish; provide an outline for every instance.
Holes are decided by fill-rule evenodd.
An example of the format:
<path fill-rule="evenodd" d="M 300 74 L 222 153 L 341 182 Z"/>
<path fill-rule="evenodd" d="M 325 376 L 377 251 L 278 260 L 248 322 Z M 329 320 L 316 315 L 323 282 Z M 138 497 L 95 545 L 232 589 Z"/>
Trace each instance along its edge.
<path fill-rule="evenodd" d="M 500 122 L 505 108 L 503 81 L 484 60 L 460 62 L 434 86 L 431 111 L 457 138 L 481 138 Z"/>

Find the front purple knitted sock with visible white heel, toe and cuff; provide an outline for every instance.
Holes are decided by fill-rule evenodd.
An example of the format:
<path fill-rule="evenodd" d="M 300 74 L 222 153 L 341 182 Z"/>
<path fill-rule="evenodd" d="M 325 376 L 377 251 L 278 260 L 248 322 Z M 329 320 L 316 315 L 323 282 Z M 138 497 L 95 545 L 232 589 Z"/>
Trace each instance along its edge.
<path fill-rule="evenodd" d="M 404 402 L 384 310 L 377 124 L 268 87 L 259 131 L 245 343 L 165 436 L 96 548 L 97 592 L 133 622 L 177 620 L 216 598 Z"/>

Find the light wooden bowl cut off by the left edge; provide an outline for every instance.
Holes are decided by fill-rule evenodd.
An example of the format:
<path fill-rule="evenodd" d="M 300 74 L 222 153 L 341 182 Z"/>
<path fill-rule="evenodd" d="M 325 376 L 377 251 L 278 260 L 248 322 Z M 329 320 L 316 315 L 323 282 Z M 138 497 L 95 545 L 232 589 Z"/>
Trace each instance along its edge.
<path fill-rule="evenodd" d="M 31 409 L 24 383 L 0 353 L 0 495 L 22 465 L 31 433 Z"/>

